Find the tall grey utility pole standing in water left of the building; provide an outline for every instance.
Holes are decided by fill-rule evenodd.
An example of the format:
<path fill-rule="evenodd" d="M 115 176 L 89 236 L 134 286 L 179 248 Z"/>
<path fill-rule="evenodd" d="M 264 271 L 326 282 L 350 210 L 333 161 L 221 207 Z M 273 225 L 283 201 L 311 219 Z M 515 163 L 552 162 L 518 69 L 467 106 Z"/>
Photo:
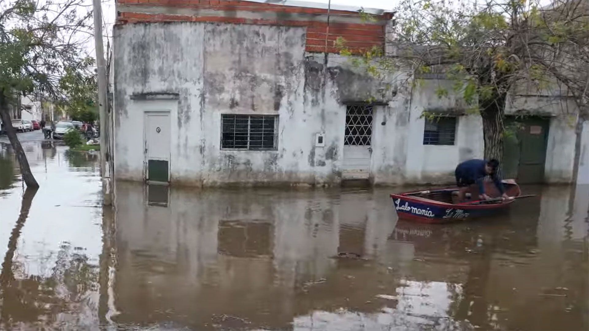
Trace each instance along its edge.
<path fill-rule="evenodd" d="M 112 183 L 110 157 L 108 148 L 108 114 L 107 114 L 107 72 L 102 46 L 102 9 L 100 0 L 93 0 L 94 5 L 94 42 L 96 45 L 96 66 L 98 69 L 98 114 L 100 115 L 100 173 L 102 176 L 102 201 L 106 206 L 112 204 Z"/>

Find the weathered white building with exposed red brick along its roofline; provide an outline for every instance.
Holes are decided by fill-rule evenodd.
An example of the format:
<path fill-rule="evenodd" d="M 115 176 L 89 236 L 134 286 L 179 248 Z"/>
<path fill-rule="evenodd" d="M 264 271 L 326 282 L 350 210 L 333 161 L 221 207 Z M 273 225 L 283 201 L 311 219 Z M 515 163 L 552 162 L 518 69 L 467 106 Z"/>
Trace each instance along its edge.
<path fill-rule="evenodd" d="M 324 4 L 213 2 L 117 2 L 115 178 L 192 186 L 445 183 L 456 164 L 482 158 L 479 115 L 466 115 L 458 97 L 435 94 L 448 81 L 412 87 L 401 84 L 402 73 L 376 80 L 332 47 L 337 37 L 358 52 L 389 46 L 391 13 L 365 9 L 377 18 L 367 22 L 359 8 L 332 7 L 327 29 Z M 535 114 L 538 102 L 526 100 Z M 424 110 L 445 117 L 426 121 Z M 538 112 L 546 127 L 526 124 L 536 135 L 522 131 L 527 138 L 514 143 L 535 151 L 512 158 L 516 177 L 572 180 L 574 128 L 557 112 Z"/>

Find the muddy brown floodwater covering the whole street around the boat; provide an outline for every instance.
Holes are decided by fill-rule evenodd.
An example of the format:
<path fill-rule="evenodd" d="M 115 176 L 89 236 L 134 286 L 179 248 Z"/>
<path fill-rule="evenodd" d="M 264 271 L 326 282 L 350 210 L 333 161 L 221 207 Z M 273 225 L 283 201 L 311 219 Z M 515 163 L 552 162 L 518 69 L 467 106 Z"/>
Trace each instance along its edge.
<path fill-rule="evenodd" d="M 508 213 L 398 221 L 374 190 L 117 183 L 98 155 L 0 149 L 0 329 L 587 330 L 589 186 Z"/>

